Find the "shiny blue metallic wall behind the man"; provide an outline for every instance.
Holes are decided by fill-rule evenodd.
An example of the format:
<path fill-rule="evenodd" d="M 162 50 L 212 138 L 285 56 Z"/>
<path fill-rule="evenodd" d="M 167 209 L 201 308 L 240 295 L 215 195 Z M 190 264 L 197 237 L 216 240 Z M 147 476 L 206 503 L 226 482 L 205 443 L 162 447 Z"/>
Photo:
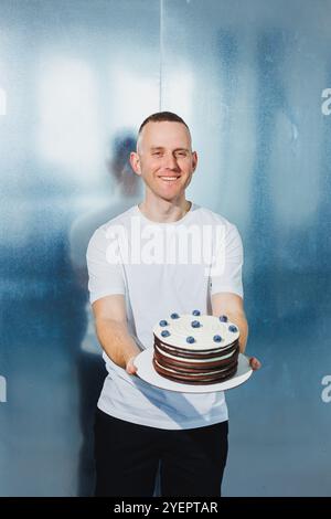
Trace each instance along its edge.
<path fill-rule="evenodd" d="M 135 199 L 114 156 L 159 109 L 200 153 L 189 200 L 245 246 L 264 367 L 227 392 L 224 495 L 330 495 L 330 0 L 1 1 L 0 495 L 92 491 L 85 246 Z"/>

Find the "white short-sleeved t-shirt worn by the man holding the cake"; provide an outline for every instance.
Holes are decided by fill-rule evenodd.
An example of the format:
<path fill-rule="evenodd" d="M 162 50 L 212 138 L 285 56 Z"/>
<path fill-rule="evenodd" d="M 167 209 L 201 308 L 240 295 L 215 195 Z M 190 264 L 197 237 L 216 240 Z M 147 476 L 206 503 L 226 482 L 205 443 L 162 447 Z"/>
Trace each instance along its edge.
<path fill-rule="evenodd" d="M 95 231 L 86 257 L 90 304 L 124 294 L 128 329 L 141 350 L 153 346 L 153 326 L 172 313 L 199 309 L 211 315 L 211 295 L 229 292 L 243 297 L 243 244 L 237 227 L 194 203 L 172 223 L 152 222 L 134 205 Z M 108 375 L 98 407 L 105 413 L 166 430 L 227 420 L 223 392 L 162 390 L 103 354 Z"/>

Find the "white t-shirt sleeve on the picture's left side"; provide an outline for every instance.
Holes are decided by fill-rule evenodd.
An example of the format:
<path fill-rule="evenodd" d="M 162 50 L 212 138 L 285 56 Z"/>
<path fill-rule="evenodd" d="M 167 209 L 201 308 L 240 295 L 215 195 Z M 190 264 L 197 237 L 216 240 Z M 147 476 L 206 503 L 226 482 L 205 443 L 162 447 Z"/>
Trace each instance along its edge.
<path fill-rule="evenodd" d="M 86 262 L 88 269 L 89 303 L 115 294 L 125 294 L 122 266 L 109 256 L 109 244 L 103 229 L 89 240 Z"/>

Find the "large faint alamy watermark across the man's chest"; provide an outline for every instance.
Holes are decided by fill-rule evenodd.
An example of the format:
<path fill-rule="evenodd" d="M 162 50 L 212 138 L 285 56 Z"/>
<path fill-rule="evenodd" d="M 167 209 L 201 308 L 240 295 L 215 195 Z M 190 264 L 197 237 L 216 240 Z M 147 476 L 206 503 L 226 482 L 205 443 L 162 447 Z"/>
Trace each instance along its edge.
<path fill-rule="evenodd" d="M 106 257 L 109 264 L 205 265 L 205 275 L 221 275 L 225 264 L 224 225 L 147 224 L 132 216 L 130 226 L 110 225 Z"/>

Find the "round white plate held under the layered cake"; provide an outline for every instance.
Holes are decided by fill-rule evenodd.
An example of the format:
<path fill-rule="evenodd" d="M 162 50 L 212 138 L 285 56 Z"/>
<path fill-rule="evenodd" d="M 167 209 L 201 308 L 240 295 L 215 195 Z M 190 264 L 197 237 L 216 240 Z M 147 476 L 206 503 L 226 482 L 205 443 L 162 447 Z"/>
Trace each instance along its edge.
<path fill-rule="evenodd" d="M 149 382 L 152 385 L 156 385 L 157 388 L 178 391 L 181 393 L 212 393 L 214 391 L 224 391 L 236 388 L 249 379 L 253 372 L 247 357 L 239 353 L 237 372 L 225 382 L 217 382 L 216 384 L 205 385 L 182 384 L 180 382 L 174 382 L 172 380 L 166 379 L 164 377 L 161 377 L 154 370 L 152 358 L 153 347 L 141 351 L 141 353 L 139 353 L 134 361 L 138 369 L 136 374 L 140 377 L 140 379 Z"/>

